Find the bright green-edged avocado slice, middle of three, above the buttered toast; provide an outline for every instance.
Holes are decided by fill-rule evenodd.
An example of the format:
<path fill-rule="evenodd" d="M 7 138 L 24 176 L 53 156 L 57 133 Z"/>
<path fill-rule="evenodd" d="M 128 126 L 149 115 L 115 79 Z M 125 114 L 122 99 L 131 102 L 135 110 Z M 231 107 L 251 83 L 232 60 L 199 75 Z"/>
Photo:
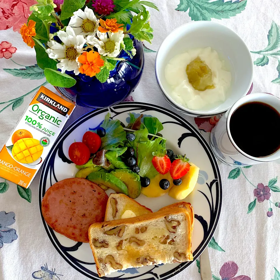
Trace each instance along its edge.
<path fill-rule="evenodd" d="M 87 179 L 100 185 L 101 188 L 103 188 L 102 186 L 106 186 L 114 190 L 116 193 L 124 193 L 125 195 L 128 195 L 127 186 L 111 173 L 105 173 L 102 171 L 92 172 L 88 175 Z"/>

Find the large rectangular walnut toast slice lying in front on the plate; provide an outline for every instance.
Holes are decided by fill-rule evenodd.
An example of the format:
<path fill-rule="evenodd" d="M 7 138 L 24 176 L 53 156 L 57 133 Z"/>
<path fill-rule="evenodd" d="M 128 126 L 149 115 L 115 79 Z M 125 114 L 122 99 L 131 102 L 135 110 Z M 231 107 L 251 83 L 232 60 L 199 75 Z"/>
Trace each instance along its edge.
<path fill-rule="evenodd" d="M 94 223 L 88 230 L 100 277 L 145 265 L 193 260 L 190 215 L 172 207 L 134 218 Z"/>

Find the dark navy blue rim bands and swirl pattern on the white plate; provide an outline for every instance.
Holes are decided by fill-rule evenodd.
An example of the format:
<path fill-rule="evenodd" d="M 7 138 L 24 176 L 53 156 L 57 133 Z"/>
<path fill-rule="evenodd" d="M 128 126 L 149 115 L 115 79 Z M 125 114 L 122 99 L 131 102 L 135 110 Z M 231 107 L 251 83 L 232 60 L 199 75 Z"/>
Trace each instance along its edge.
<path fill-rule="evenodd" d="M 126 111 L 121 111 L 121 112 L 115 111 L 117 109 L 122 109 L 122 108 L 125 109 L 127 107 L 129 107 L 130 109 L 126 110 Z M 221 205 L 222 205 L 222 181 L 221 181 L 220 171 L 219 171 L 219 167 L 218 167 L 216 158 L 215 158 L 211 148 L 209 147 L 209 144 L 199 134 L 197 129 L 195 129 L 188 121 L 184 120 L 181 116 L 179 116 L 176 113 L 174 113 L 172 111 L 169 111 L 165 108 L 157 106 L 157 105 L 151 105 L 151 104 L 146 104 L 146 103 L 142 103 L 142 102 L 123 102 L 123 103 L 120 103 L 118 105 L 112 106 L 110 108 L 104 108 L 104 109 L 90 111 L 90 112 L 86 113 L 85 115 L 81 116 L 76 121 L 74 121 L 57 139 L 57 141 L 55 142 L 55 144 L 53 146 L 52 151 L 49 153 L 48 157 L 46 158 L 46 160 L 43 164 L 42 173 L 41 173 L 41 177 L 40 177 L 40 186 L 39 186 L 40 212 L 41 212 L 41 199 L 46 192 L 46 182 L 47 182 L 47 180 L 50 180 L 51 185 L 53 183 L 55 183 L 55 182 L 52 182 L 52 175 L 53 175 L 53 178 L 55 179 L 55 181 L 57 181 L 57 179 L 55 177 L 55 172 L 54 172 L 55 156 L 58 153 L 58 156 L 62 159 L 63 162 L 67 162 L 67 163 L 71 162 L 67 159 L 67 157 L 65 157 L 65 155 L 63 154 L 63 150 L 62 150 L 63 141 L 67 138 L 67 136 L 69 136 L 69 134 L 74 129 L 76 129 L 81 123 L 83 123 L 84 121 L 92 118 L 95 115 L 99 115 L 100 113 L 104 113 L 104 112 L 108 111 L 110 113 L 115 113 L 114 116 L 116 116 L 116 115 L 118 115 L 120 113 L 123 113 L 123 112 L 129 112 L 129 111 L 131 112 L 131 108 L 134 108 L 135 110 L 141 109 L 141 110 L 143 110 L 142 113 L 144 113 L 145 111 L 154 110 L 154 111 L 158 111 L 160 113 L 164 113 L 165 115 L 170 116 L 171 118 L 176 120 L 176 122 L 172 122 L 172 123 L 176 123 L 177 125 L 180 125 L 180 126 L 186 128 L 186 129 L 188 129 L 189 131 L 191 131 L 190 133 L 183 133 L 182 134 L 182 136 L 178 139 L 178 147 L 180 148 L 183 139 L 185 139 L 188 136 L 193 136 L 199 141 L 199 143 L 204 148 L 207 156 L 209 157 L 209 160 L 211 162 L 211 166 L 213 168 L 214 177 L 215 177 L 214 180 L 212 180 L 209 183 L 206 183 L 206 185 L 209 188 L 209 192 L 210 192 L 211 196 L 207 197 L 207 195 L 204 194 L 203 192 L 201 192 L 201 191 L 199 191 L 199 192 L 201 192 L 202 195 L 204 195 L 204 197 L 206 198 L 206 200 L 209 204 L 210 223 L 208 225 L 207 222 L 204 220 L 204 218 L 202 216 L 198 216 L 198 215 L 195 214 L 195 219 L 197 219 L 203 227 L 204 237 L 203 237 L 203 240 L 200 243 L 200 245 L 193 252 L 194 259 L 193 259 L 192 262 L 194 262 L 199 257 L 199 255 L 204 251 L 206 246 L 208 246 L 208 243 L 210 242 L 210 240 L 211 240 L 211 238 L 214 234 L 214 231 L 217 227 L 217 224 L 218 224 L 218 220 L 219 220 L 219 217 L 220 217 L 220 211 L 221 211 Z M 213 186 L 216 187 L 216 201 L 215 202 L 213 201 L 213 196 L 212 196 L 212 187 Z M 100 277 L 98 276 L 97 273 L 92 272 L 89 269 L 87 269 L 85 266 L 83 266 L 83 264 L 84 265 L 94 265 L 95 263 L 93 263 L 93 262 L 88 263 L 88 262 L 78 260 L 68 253 L 68 252 L 73 252 L 73 251 L 78 250 L 78 248 L 82 245 L 82 242 L 77 242 L 72 247 L 62 246 L 62 244 L 60 244 L 57 237 L 55 236 L 54 231 L 50 227 L 48 227 L 48 225 L 46 224 L 46 222 L 43 218 L 42 212 L 41 212 L 41 218 L 42 218 L 45 230 L 48 234 L 48 237 L 50 238 L 50 240 L 51 240 L 53 246 L 56 248 L 56 250 L 64 258 L 64 260 L 66 260 L 77 271 L 81 272 L 85 276 L 88 276 L 90 279 L 100 279 Z M 124 274 L 121 274 L 118 277 L 106 277 L 106 276 L 104 276 L 104 277 L 102 277 L 102 279 L 112 280 L 112 279 L 119 279 L 119 278 L 122 278 L 122 279 L 123 278 L 125 278 L 125 279 L 139 278 L 139 279 L 145 279 L 145 280 L 152 280 L 152 279 L 165 280 L 165 279 L 169 279 L 170 277 L 173 277 L 174 275 L 178 274 L 183 269 L 187 268 L 192 262 L 180 263 L 174 269 L 171 269 L 168 272 L 165 272 L 165 273 L 159 274 L 159 275 L 157 273 L 153 272 L 153 270 L 155 268 L 159 267 L 159 265 L 155 265 L 153 267 L 151 266 L 151 269 L 146 271 L 145 273 L 137 274 L 136 276 L 133 275 L 134 273 L 133 274 L 124 273 Z M 133 276 L 123 277 L 125 275 L 128 276 L 129 274 L 133 275 Z M 146 274 L 147 274 L 147 278 L 143 278 L 143 275 L 146 275 Z M 149 276 L 152 276 L 152 277 L 149 277 Z"/>

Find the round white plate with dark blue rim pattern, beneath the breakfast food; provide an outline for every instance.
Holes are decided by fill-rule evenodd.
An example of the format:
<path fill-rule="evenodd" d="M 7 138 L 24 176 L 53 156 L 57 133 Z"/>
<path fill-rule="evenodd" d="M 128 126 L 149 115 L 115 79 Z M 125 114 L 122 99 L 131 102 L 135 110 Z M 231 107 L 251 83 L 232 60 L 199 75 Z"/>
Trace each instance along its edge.
<path fill-rule="evenodd" d="M 172 149 L 174 153 L 186 154 L 191 162 L 200 168 L 194 191 L 184 199 L 184 201 L 192 204 L 195 213 L 192 234 L 193 261 L 195 261 L 210 242 L 220 217 L 222 204 L 220 171 L 211 148 L 199 132 L 181 116 L 157 105 L 141 102 L 123 102 L 109 108 L 88 112 L 74 121 L 58 137 L 43 164 L 39 186 L 40 211 L 41 201 L 50 186 L 65 178 L 75 177 L 77 168 L 68 156 L 71 143 L 81 141 L 85 131 L 88 131 L 89 128 L 97 127 L 104 120 L 107 113 L 111 114 L 111 118 L 118 119 L 125 125 L 129 123 L 129 113 L 134 114 L 136 118 L 140 114 L 143 114 L 144 117 L 158 118 L 163 125 L 161 134 L 167 139 L 167 148 Z M 108 194 L 112 190 L 107 190 L 106 192 Z M 143 194 L 137 197 L 136 201 L 154 212 L 164 206 L 178 202 L 169 195 L 146 197 Z M 41 217 L 50 241 L 64 260 L 90 279 L 99 279 L 90 245 L 76 242 L 55 232 L 45 222 L 42 211 Z M 129 268 L 102 278 L 169 279 L 187 268 L 191 263 L 183 262 Z"/>

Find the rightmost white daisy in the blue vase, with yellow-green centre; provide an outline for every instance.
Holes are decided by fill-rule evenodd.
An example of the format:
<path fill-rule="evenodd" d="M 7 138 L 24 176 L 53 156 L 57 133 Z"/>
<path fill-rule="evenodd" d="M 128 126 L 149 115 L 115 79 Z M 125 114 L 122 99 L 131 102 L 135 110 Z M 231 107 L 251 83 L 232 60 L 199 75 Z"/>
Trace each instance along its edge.
<path fill-rule="evenodd" d="M 99 54 L 104 56 L 107 55 L 108 57 L 117 57 L 120 54 L 120 44 L 123 44 L 123 37 L 125 36 L 122 30 L 115 33 L 103 33 L 97 31 L 96 35 L 99 40 L 95 36 L 88 36 L 87 42 L 90 45 L 95 46 L 98 49 Z"/>

